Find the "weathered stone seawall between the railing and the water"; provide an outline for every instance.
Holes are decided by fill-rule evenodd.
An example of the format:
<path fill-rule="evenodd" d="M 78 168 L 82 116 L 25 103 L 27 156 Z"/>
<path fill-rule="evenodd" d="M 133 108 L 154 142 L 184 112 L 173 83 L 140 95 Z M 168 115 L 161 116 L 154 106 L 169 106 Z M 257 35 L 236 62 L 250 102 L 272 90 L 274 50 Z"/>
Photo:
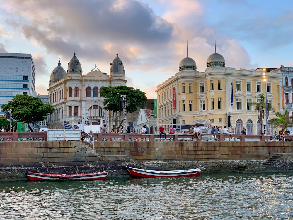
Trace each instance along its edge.
<path fill-rule="evenodd" d="M 27 179 L 26 172 L 89 173 L 107 170 L 126 175 L 126 165 L 158 170 L 203 172 L 293 170 L 290 142 L 96 142 L 95 150 L 81 141 L 1 142 L 0 180 Z M 263 165 L 272 155 L 286 163 Z M 242 170 L 243 171 L 243 170 Z"/>

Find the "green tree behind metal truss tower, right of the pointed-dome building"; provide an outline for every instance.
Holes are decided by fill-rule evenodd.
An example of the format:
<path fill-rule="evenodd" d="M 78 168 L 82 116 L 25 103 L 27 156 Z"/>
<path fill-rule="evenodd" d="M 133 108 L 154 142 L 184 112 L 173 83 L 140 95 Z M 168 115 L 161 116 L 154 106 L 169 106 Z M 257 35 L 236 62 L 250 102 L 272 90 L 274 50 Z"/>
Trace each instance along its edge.
<path fill-rule="evenodd" d="M 134 112 L 137 111 L 137 108 L 143 108 L 147 103 L 147 97 L 144 92 L 139 89 L 134 89 L 133 87 L 127 86 L 117 86 L 117 87 L 102 87 L 100 90 L 100 95 L 105 97 L 103 105 L 105 110 L 115 112 L 115 124 L 114 127 L 117 127 L 118 123 L 118 111 L 123 111 L 123 108 L 120 107 L 119 101 L 122 99 L 121 95 L 126 95 L 126 111 Z M 122 125 L 123 120 L 118 126 L 118 130 Z"/>

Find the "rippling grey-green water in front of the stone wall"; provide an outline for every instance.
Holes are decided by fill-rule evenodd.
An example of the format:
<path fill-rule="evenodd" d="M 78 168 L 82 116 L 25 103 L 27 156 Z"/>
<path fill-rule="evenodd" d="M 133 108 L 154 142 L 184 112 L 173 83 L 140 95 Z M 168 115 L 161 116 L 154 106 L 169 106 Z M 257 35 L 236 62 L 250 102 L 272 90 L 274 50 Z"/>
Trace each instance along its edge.
<path fill-rule="evenodd" d="M 293 174 L 0 182 L 0 219 L 293 219 Z"/>

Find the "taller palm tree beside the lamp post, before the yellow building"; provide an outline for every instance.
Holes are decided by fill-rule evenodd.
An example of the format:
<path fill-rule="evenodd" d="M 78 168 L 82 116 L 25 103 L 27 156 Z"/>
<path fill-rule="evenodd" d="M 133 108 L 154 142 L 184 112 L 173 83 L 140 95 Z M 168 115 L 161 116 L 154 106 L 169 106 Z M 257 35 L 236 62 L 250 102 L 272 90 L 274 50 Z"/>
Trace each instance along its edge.
<path fill-rule="evenodd" d="M 260 134 L 263 134 L 263 119 L 265 118 L 265 95 L 262 93 L 259 95 L 260 99 L 259 102 L 251 102 L 250 105 L 255 106 L 255 111 L 257 112 L 258 121 L 260 123 Z M 270 111 L 275 112 L 275 109 L 271 105 L 267 105 L 267 111 L 268 111 L 268 117 L 270 114 Z M 267 127 L 267 133 L 268 133 L 268 125 Z"/>

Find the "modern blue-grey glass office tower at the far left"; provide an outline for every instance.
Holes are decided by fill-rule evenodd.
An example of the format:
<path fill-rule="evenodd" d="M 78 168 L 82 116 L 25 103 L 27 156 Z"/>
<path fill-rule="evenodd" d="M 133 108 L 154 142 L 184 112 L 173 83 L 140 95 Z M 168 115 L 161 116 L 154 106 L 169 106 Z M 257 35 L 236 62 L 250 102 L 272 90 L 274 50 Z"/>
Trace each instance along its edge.
<path fill-rule="evenodd" d="M 0 53 L 0 105 L 14 96 L 35 90 L 35 65 L 31 54 Z"/>

